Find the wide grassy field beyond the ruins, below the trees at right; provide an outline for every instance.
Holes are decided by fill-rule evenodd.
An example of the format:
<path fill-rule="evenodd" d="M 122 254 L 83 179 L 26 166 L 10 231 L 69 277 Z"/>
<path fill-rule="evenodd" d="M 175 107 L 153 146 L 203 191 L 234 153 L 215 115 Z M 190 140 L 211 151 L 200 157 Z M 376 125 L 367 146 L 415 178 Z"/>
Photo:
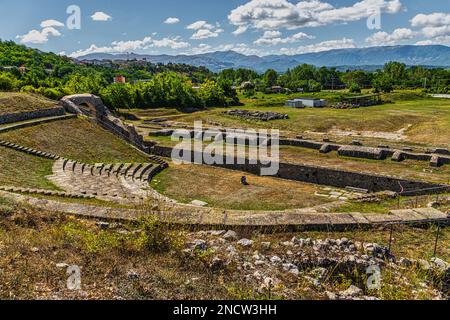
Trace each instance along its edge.
<path fill-rule="evenodd" d="M 308 96 L 327 98 L 330 101 L 338 100 L 341 95 L 341 93 L 329 92 L 308 94 Z M 332 130 L 353 131 L 355 136 L 364 131 L 396 133 L 403 130 L 405 143 L 448 147 L 450 137 L 450 101 L 448 99 L 427 98 L 416 91 L 399 91 L 384 95 L 386 104 L 367 108 L 292 109 L 284 106 L 287 99 L 300 96 L 302 95 L 258 94 L 254 98 L 241 97 L 244 106 L 237 107 L 239 109 L 274 111 L 289 115 L 287 120 L 270 122 L 245 120 L 223 114 L 223 111 L 234 108 L 213 108 L 190 114 L 181 114 L 176 110 L 169 112 L 167 109 L 132 112 L 144 119 L 163 116 L 190 125 L 193 125 L 195 120 L 203 120 L 205 124 L 218 124 L 224 127 L 274 128 L 292 137 L 305 132 L 333 136 L 330 133 Z M 374 139 L 367 140 L 373 142 Z M 379 139 L 375 140 L 379 141 Z"/>

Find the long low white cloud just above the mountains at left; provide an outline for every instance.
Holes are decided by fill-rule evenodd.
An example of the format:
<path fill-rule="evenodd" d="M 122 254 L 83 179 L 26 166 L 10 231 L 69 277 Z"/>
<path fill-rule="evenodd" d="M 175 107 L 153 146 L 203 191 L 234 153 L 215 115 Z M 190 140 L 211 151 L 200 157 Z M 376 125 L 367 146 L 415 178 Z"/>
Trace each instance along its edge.
<path fill-rule="evenodd" d="M 78 58 L 91 53 L 124 53 L 150 48 L 169 48 L 173 50 L 188 48 L 190 44 L 180 37 L 153 39 L 145 37 L 142 40 L 113 41 L 110 46 L 98 47 L 92 44 L 89 48 L 72 52 L 69 56 Z"/>

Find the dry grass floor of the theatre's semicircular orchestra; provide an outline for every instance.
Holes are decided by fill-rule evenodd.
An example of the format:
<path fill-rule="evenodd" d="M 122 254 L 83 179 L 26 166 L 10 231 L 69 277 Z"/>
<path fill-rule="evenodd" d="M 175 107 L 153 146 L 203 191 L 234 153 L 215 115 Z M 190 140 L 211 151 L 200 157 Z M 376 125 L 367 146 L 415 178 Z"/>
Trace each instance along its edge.
<path fill-rule="evenodd" d="M 318 186 L 271 177 L 245 174 L 243 186 L 238 171 L 198 165 L 171 165 L 159 174 L 152 186 L 176 200 L 207 202 L 211 207 L 236 210 L 284 210 L 330 202 L 315 196 Z"/>

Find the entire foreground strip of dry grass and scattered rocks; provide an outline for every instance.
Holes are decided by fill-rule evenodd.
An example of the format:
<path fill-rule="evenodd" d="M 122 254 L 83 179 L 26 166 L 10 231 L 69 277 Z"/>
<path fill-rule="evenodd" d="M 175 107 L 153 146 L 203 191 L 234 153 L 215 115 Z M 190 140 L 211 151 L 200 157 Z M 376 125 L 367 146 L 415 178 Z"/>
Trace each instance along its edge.
<path fill-rule="evenodd" d="M 396 229 L 395 252 L 404 254 L 395 255 L 374 243 L 385 230 L 194 232 L 152 217 L 95 221 L 0 199 L 0 298 L 447 299 L 449 233 L 442 259 L 425 260 L 434 234 Z M 81 290 L 66 287 L 73 266 Z"/>

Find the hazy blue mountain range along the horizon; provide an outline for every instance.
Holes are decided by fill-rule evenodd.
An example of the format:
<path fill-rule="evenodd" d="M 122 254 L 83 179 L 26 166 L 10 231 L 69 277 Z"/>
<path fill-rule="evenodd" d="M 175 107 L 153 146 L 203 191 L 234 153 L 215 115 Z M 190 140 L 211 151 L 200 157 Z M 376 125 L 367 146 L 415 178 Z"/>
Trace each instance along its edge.
<path fill-rule="evenodd" d="M 450 47 L 432 46 L 391 46 L 357 49 L 338 49 L 299 55 L 246 56 L 234 51 L 217 51 L 198 55 L 140 55 L 140 54 L 106 54 L 94 53 L 78 58 L 79 60 L 147 60 L 153 63 L 184 63 L 204 66 L 212 71 L 227 68 L 248 68 L 264 72 L 273 68 L 284 72 L 288 68 L 307 63 L 315 66 L 348 68 L 361 67 L 373 70 L 374 66 L 382 66 L 389 61 L 399 61 L 407 65 L 423 65 L 429 67 L 449 67 Z"/>

